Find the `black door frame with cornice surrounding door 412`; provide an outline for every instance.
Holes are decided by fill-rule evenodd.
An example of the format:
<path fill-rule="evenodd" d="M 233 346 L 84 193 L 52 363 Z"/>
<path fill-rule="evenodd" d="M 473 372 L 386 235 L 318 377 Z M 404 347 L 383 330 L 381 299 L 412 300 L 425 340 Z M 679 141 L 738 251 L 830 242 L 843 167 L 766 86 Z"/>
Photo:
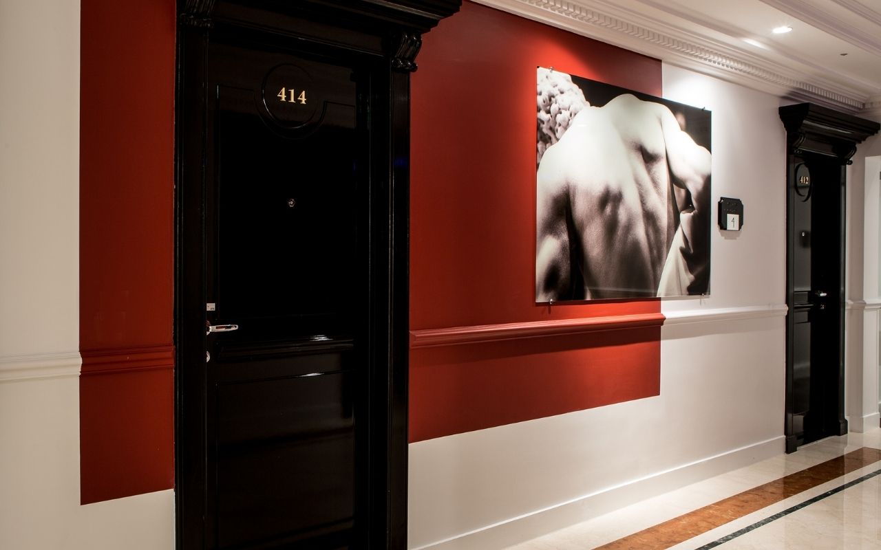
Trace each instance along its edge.
<path fill-rule="evenodd" d="M 800 442 L 793 422 L 793 417 L 798 413 L 795 410 L 793 391 L 793 372 L 795 356 L 795 246 L 796 225 L 795 202 L 796 197 L 796 164 L 803 156 L 819 156 L 829 158 L 830 162 L 840 166 L 837 170 L 837 180 L 813 181 L 811 185 L 837 186 L 840 192 L 835 194 L 837 203 L 830 204 L 830 215 L 833 216 L 839 227 L 839 235 L 835 238 L 836 251 L 840 268 L 837 270 L 834 288 L 826 290 L 827 303 L 836 310 L 835 319 L 837 326 L 835 334 L 825 334 L 825 346 L 833 346 L 833 356 L 837 356 L 837 376 L 833 385 L 825 386 L 824 400 L 826 407 L 821 414 L 820 422 L 825 428 L 825 436 L 848 433 L 848 421 L 844 415 L 844 306 L 845 306 L 845 236 L 846 236 L 846 170 L 845 166 L 851 164 L 850 158 L 856 152 L 856 144 L 862 143 L 867 137 L 877 133 L 877 122 L 867 121 L 859 117 L 839 113 L 833 109 L 811 103 L 780 107 L 780 117 L 787 132 L 787 255 L 786 255 L 786 304 L 788 312 L 786 317 L 786 417 L 784 434 L 786 436 L 786 451 L 794 452 Z M 832 341 L 830 343 L 830 336 Z M 813 342 L 813 336 L 811 336 Z M 812 344 L 813 345 L 813 344 Z M 807 442 L 804 442 L 807 443 Z"/>

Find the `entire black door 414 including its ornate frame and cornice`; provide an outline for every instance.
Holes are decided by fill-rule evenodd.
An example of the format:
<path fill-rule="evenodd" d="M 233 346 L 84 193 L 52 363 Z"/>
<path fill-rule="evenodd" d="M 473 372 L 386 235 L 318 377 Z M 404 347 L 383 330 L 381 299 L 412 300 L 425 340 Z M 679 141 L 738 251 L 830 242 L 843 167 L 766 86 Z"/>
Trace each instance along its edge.
<path fill-rule="evenodd" d="M 406 546 L 410 73 L 460 1 L 178 2 L 178 548 Z"/>

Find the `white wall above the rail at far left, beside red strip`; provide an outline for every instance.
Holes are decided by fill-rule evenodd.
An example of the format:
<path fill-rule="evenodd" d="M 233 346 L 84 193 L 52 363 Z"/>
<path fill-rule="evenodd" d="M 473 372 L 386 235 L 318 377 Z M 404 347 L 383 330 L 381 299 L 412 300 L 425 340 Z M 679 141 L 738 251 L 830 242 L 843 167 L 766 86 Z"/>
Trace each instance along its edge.
<path fill-rule="evenodd" d="M 0 0 L 0 357 L 79 343 L 79 2 Z"/>

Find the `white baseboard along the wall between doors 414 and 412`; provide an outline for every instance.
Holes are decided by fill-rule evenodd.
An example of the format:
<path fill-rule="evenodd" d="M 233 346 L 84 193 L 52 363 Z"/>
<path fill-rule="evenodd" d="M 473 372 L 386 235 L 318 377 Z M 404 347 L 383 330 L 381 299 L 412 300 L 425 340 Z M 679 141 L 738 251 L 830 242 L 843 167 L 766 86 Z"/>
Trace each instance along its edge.
<path fill-rule="evenodd" d="M 623 508 L 633 502 L 781 455 L 784 447 L 785 437 L 774 437 L 413 550 L 492 550 L 512 546 Z"/>

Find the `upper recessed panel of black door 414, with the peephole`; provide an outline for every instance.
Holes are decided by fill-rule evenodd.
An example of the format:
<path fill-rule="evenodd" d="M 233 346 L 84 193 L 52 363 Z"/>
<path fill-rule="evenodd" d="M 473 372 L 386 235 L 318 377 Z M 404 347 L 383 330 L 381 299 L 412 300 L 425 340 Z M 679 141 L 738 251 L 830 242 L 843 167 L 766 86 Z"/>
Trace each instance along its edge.
<path fill-rule="evenodd" d="M 322 77 L 246 88 L 239 87 L 248 84 L 245 79 L 234 75 L 229 84 L 218 84 L 218 308 L 237 319 L 319 316 L 344 323 L 355 271 L 359 134 L 352 70 L 272 61 L 285 62 L 264 62 L 270 76 L 279 66 L 302 66 L 303 75 L 308 70 Z M 248 69 L 251 83 L 262 85 L 266 76 Z M 281 82 L 289 86 L 279 87 Z M 275 87 L 278 94 L 293 94 L 282 101 Z M 267 102 L 308 106 L 315 113 L 287 128 Z M 304 332 L 315 332 L 313 319 L 302 320 Z"/>

